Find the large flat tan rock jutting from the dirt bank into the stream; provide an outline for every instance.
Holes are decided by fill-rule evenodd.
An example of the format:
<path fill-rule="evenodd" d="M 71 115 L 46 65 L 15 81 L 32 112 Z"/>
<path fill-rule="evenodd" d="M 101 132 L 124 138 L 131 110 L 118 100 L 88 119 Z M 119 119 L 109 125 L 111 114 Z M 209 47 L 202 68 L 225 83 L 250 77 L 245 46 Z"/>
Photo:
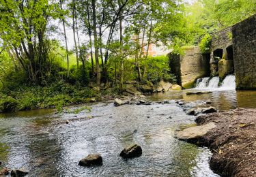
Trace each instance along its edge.
<path fill-rule="evenodd" d="M 198 138 L 201 138 L 203 135 L 208 133 L 208 131 L 214 129 L 215 127 L 215 123 L 208 123 L 205 125 L 189 127 L 187 129 L 177 132 L 176 136 L 179 140 L 198 140 Z"/>

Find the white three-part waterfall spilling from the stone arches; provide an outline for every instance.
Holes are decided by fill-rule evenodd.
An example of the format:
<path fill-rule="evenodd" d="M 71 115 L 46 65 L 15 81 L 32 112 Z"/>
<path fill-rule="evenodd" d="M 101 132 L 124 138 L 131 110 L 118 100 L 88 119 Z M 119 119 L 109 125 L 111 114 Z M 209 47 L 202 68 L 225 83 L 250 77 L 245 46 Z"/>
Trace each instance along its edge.
<path fill-rule="evenodd" d="M 216 89 L 216 90 L 233 90 L 236 89 L 236 77 L 234 75 L 228 75 L 221 83 L 221 86 L 218 86 L 220 78 L 218 76 L 213 78 L 199 78 L 197 80 L 197 86 L 195 88 L 204 88 L 204 89 Z"/>

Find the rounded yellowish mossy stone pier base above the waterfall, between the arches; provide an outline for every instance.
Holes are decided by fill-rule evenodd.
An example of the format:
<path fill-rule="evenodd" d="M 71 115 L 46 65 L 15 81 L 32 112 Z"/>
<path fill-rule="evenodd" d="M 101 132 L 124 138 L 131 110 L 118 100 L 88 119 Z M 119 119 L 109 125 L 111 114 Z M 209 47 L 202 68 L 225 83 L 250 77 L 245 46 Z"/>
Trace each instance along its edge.
<path fill-rule="evenodd" d="M 228 74 L 233 74 L 233 60 L 221 59 L 218 61 L 218 76 L 223 79 Z"/>

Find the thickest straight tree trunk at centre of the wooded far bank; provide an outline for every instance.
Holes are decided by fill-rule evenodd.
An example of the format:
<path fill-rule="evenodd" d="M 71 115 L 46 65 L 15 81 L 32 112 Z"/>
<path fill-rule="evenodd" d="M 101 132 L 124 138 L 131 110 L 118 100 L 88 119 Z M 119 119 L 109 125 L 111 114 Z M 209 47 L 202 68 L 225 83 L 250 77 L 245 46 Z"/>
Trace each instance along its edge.
<path fill-rule="evenodd" d="M 100 87 L 100 63 L 99 63 L 99 46 L 98 46 L 98 35 L 97 35 L 97 24 L 96 24 L 96 0 L 92 0 L 92 18 L 93 18 L 93 29 L 94 29 L 94 49 L 95 49 L 95 62 L 96 62 L 96 83 Z"/>

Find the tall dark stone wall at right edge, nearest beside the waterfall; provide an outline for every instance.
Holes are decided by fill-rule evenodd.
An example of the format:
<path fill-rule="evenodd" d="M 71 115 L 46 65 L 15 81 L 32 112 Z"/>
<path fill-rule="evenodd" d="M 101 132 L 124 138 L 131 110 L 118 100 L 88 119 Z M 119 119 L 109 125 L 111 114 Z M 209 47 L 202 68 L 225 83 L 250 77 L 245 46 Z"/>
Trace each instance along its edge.
<path fill-rule="evenodd" d="M 256 88 L 256 14 L 236 24 L 233 33 L 233 59 L 236 87 Z"/>

